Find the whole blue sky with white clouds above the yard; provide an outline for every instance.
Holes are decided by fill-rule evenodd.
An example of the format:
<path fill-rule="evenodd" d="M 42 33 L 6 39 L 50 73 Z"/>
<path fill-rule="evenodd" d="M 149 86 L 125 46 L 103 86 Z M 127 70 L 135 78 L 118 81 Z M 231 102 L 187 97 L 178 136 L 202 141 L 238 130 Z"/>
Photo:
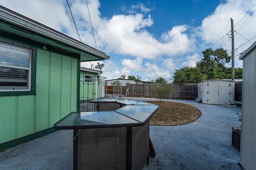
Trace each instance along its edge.
<path fill-rule="evenodd" d="M 82 42 L 110 56 L 100 61 L 106 80 L 124 74 L 170 80 L 175 69 L 195 66 L 207 48 L 222 47 L 231 55 L 231 17 L 235 67 L 242 67 L 239 54 L 256 41 L 256 0 L 87 0 L 96 45 L 86 0 L 68 2 Z M 79 40 L 66 0 L 0 0 L 0 5 Z M 94 69 L 97 63 L 81 66 Z"/>

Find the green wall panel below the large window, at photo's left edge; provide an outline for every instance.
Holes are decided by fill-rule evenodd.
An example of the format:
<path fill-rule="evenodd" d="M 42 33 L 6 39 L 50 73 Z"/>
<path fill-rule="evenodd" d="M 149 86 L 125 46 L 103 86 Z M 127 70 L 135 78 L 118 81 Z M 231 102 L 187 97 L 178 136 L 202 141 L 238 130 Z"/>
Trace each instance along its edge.
<path fill-rule="evenodd" d="M 15 139 L 16 97 L 0 97 L 0 143 Z"/>

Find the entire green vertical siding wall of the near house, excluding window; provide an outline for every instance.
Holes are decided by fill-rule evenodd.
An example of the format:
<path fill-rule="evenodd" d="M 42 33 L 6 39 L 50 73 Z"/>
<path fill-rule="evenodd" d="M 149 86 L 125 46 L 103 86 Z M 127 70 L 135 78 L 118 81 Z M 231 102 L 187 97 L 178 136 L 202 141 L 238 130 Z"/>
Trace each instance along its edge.
<path fill-rule="evenodd" d="M 53 127 L 77 111 L 78 59 L 37 50 L 36 95 L 0 96 L 0 144 Z"/>

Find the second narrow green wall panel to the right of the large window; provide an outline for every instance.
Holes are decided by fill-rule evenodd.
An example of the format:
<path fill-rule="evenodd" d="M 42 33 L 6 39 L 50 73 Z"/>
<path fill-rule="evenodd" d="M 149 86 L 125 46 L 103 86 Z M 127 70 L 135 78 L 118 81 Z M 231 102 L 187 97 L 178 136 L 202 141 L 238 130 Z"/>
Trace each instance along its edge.
<path fill-rule="evenodd" d="M 49 127 L 60 120 L 62 56 L 51 54 Z"/>

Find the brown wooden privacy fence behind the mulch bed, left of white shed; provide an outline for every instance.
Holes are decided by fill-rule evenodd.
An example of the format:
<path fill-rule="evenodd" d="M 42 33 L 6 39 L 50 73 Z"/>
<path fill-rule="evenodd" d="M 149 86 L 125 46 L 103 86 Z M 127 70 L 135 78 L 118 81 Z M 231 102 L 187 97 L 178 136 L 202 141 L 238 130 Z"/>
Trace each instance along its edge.
<path fill-rule="evenodd" d="M 130 97 L 156 98 L 153 86 L 162 86 L 162 84 L 129 84 Z M 194 100 L 197 98 L 198 84 L 165 84 L 170 86 L 171 94 L 167 99 Z"/>

